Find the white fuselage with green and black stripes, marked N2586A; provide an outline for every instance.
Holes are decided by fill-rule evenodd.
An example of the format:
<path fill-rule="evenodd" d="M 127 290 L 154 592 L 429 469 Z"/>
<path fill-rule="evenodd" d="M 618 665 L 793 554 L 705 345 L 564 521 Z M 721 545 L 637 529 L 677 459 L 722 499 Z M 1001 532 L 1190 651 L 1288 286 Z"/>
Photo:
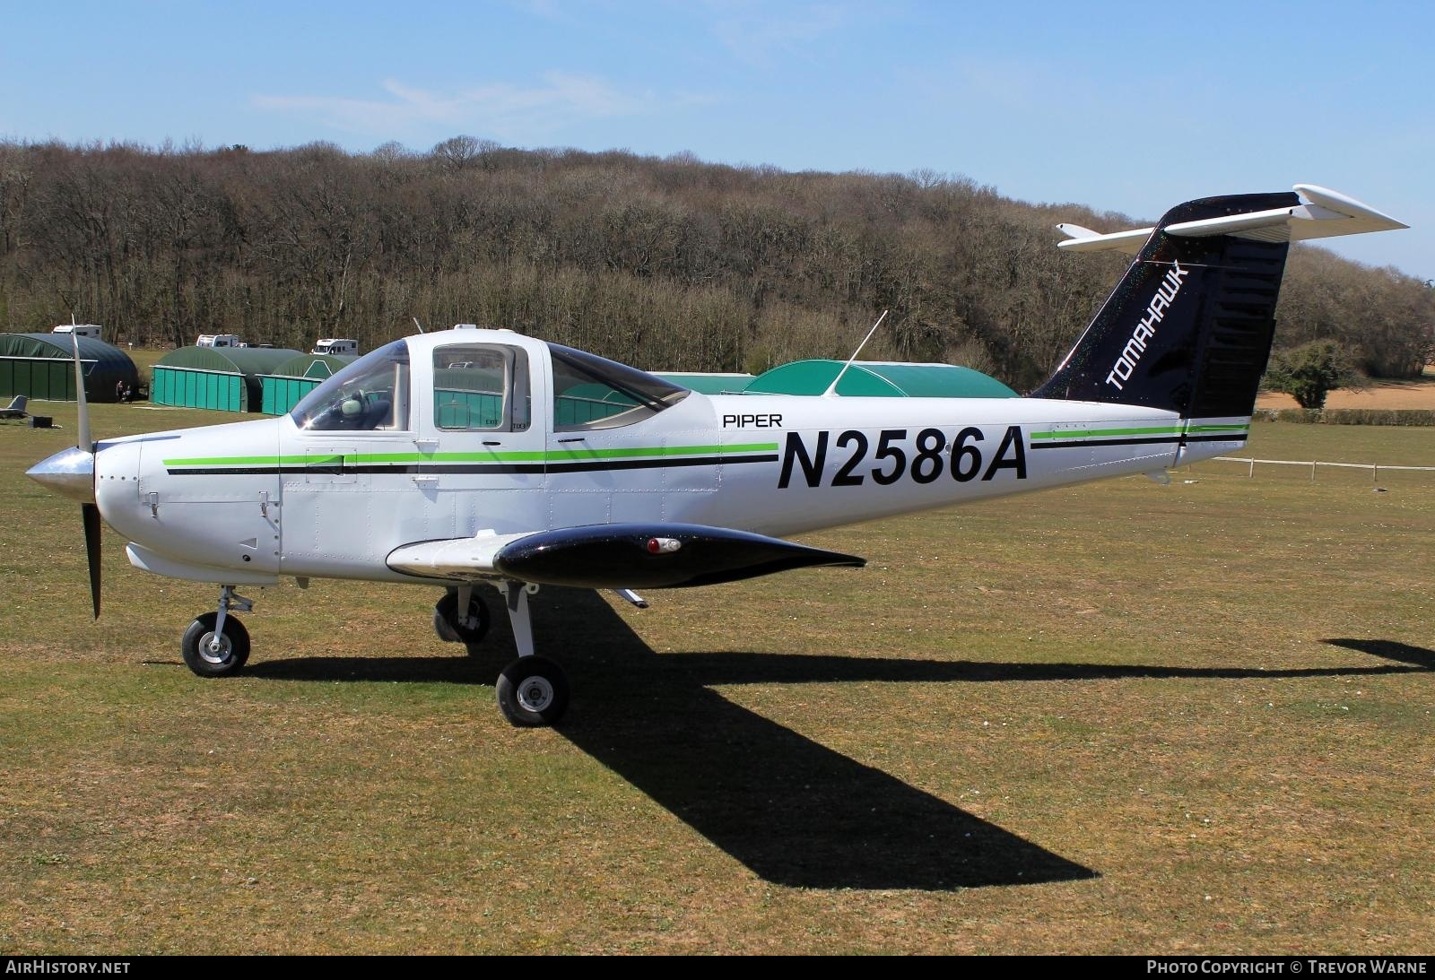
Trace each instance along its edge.
<path fill-rule="evenodd" d="M 428 354 L 458 340 L 527 352 L 531 425 L 453 432 Z M 100 443 L 96 502 L 161 574 L 419 581 L 402 545 L 618 522 L 785 537 L 1105 476 L 1244 445 L 1247 419 L 1042 399 L 706 396 L 618 428 L 555 430 L 541 341 L 499 331 L 409 339 L 402 430 L 306 430 L 290 416 Z"/>

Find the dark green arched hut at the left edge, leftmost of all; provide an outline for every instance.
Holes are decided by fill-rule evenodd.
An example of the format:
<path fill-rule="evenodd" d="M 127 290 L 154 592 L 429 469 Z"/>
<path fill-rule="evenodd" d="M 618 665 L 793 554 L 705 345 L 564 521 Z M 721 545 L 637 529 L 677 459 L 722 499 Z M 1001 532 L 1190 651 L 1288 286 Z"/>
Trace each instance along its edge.
<path fill-rule="evenodd" d="M 85 399 L 115 402 L 123 382 L 139 387 L 135 362 L 119 347 L 95 337 L 80 337 Z M 0 395 L 26 395 L 36 400 L 75 400 L 75 349 L 67 333 L 0 333 Z"/>

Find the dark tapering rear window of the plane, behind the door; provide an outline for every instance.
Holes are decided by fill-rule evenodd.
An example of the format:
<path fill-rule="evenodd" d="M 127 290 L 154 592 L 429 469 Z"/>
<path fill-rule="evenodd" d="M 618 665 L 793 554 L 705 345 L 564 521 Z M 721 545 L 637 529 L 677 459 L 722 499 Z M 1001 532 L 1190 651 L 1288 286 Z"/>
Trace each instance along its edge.
<path fill-rule="evenodd" d="M 552 352 L 552 430 L 590 432 L 640 422 L 687 397 L 689 390 L 636 367 L 563 344 Z"/>

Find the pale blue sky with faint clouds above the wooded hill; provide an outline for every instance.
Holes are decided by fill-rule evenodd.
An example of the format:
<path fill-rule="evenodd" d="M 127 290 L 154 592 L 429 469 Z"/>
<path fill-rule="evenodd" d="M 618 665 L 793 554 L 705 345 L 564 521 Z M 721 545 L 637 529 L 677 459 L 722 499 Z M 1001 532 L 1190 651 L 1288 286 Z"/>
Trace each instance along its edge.
<path fill-rule="evenodd" d="M 1155 218 L 1320 184 L 1435 278 L 1432 3 L 0 4 L 0 136 L 623 148 Z"/>

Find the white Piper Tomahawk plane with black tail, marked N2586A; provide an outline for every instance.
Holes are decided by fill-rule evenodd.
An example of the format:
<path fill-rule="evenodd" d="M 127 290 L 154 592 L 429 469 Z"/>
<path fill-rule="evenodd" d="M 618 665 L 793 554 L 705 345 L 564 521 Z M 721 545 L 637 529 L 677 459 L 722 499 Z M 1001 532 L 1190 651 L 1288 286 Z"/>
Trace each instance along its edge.
<path fill-rule="evenodd" d="M 1135 254 L 1039 390 L 1007 399 L 709 396 L 507 330 L 396 340 L 287 416 L 79 445 L 29 475 L 83 502 L 99 616 L 100 519 L 131 564 L 215 583 L 184 634 L 220 677 L 250 640 L 243 585 L 293 577 L 441 585 L 435 627 L 476 643 L 498 585 L 518 659 L 514 725 L 550 725 L 563 669 L 535 656 L 540 585 L 709 585 L 862 560 L 785 535 L 963 501 L 1151 473 L 1246 443 L 1292 241 L 1403 228 L 1333 191 L 1190 201 L 1155 228 L 1062 225 Z M 76 370 L 79 356 L 76 354 Z"/>

